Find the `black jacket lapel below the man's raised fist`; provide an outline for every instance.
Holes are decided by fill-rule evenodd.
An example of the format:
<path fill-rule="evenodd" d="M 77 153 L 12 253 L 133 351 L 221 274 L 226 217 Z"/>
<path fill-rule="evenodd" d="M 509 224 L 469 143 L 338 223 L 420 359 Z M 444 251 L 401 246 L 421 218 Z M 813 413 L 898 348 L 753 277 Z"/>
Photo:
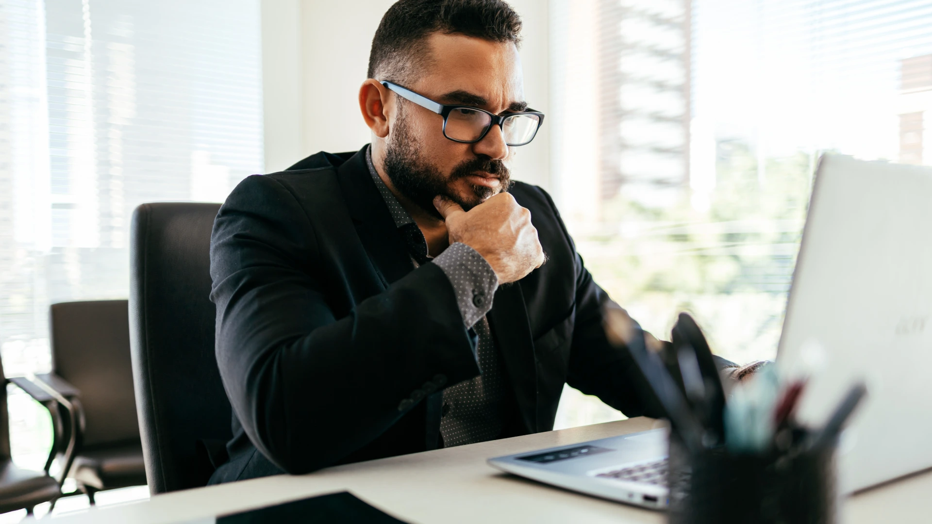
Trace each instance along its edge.
<path fill-rule="evenodd" d="M 537 359 L 531 340 L 528 308 L 519 283 L 500 286 L 488 312 L 492 335 L 514 389 L 518 411 L 528 431 L 537 427 Z"/>

